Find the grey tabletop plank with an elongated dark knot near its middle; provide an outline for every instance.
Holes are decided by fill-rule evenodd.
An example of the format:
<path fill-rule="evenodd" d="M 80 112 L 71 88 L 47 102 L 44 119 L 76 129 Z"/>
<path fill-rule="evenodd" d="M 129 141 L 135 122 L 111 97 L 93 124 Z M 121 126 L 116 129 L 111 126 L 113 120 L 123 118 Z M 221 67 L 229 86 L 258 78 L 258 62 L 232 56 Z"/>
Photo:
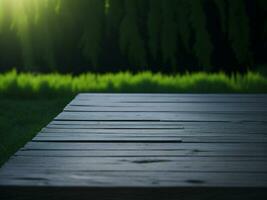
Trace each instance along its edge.
<path fill-rule="evenodd" d="M 267 172 L 267 161 L 208 161 L 201 158 L 175 160 L 165 159 L 97 159 L 90 157 L 25 157 L 16 156 L 3 166 L 6 171 L 23 169 L 50 169 L 72 171 L 163 171 L 163 172 Z M 29 171 L 30 172 L 30 171 Z M 267 175 L 266 175 L 267 178 Z"/>

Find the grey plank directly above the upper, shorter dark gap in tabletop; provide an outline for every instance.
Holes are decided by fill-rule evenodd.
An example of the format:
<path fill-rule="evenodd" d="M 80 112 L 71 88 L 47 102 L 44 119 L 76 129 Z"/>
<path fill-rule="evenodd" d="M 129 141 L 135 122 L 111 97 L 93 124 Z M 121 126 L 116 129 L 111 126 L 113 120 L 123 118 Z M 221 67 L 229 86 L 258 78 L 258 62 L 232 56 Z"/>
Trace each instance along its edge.
<path fill-rule="evenodd" d="M 267 113 L 244 115 L 242 113 L 199 113 L 199 112 L 185 112 L 185 113 L 152 113 L 152 112 L 63 112 L 60 113 L 55 120 L 99 120 L 99 121 L 222 121 L 222 122 L 236 122 L 236 121 L 263 121 L 267 122 Z"/>

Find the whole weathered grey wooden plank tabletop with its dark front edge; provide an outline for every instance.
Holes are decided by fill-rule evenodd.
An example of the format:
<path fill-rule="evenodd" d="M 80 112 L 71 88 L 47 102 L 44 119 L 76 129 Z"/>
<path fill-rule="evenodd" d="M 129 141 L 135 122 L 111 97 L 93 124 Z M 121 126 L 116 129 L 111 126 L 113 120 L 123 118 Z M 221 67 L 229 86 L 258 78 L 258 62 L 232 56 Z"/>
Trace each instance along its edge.
<path fill-rule="evenodd" d="M 1 200 L 266 189 L 267 95 L 80 94 L 0 169 Z"/>

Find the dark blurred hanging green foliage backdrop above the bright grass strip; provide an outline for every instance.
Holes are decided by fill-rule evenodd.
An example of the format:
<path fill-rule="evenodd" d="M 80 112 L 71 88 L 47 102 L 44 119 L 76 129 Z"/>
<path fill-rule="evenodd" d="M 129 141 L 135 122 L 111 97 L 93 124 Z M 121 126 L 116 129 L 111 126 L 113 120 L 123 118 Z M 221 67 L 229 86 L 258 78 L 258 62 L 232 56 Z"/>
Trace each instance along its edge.
<path fill-rule="evenodd" d="M 246 72 L 267 63 L 266 0 L 9 2 L 0 0 L 2 72 Z"/>

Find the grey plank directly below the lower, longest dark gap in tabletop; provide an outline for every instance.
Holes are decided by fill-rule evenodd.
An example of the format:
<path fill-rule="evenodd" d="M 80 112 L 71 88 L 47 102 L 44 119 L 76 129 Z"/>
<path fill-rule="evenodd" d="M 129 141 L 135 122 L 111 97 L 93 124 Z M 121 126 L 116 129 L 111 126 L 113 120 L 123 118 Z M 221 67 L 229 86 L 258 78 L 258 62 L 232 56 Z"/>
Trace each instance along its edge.
<path fill-rule="evenodd" d="M 29 142 L 23 149 L 69 149 L 69 150 L 185 150 L 189 152 L 201 152 L 201 151 L 257 151 L 261 154 L 267 154 L 267 146 L 265 144 L 190 144 L 190 143 L 49 143 L 49 142 Z"/>

